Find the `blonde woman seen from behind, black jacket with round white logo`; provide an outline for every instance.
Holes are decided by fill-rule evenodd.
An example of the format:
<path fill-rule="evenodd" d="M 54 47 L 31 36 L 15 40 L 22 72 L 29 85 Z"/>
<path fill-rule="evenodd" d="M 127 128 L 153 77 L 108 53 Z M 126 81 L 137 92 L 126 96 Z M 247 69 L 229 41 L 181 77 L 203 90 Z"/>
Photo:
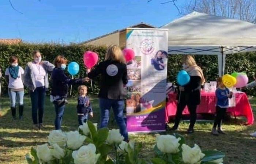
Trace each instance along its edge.
<path fill-rule="evenodd" d="M 101 74 L 99 90 L 99 107 L 101 109 L 101 123 L 99 128 L 105 128 L 109 122 L 109 110 L 112 107 L 114 117 L 125 141 L 129 141 L 126 124 L 123 119 L 125 91 L 127 84 L 127 67 L 120 47 L 110 46 L 105 61 L 99 63 L 95 70 L 87 70 L 88 77 L 95 78 Z"/>

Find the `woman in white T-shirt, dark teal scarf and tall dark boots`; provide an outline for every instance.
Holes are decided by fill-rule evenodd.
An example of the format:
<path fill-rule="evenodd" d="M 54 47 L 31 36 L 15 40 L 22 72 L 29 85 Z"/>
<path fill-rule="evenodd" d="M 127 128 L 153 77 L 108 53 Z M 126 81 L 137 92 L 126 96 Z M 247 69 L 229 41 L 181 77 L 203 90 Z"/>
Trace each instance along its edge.
<path fill-rule="evenodd" d="M 19 100 L 19 119 L 23 118 L 23 75 L 24 70 L 18 66 L 18 58 L 11 56 L 9 58 L 10 66 L 5 70 L 5 80 L 8 83 L 8 94 L 11 99 L 11 112 L 12 118 L 16 120 L 16 97 Z"/>

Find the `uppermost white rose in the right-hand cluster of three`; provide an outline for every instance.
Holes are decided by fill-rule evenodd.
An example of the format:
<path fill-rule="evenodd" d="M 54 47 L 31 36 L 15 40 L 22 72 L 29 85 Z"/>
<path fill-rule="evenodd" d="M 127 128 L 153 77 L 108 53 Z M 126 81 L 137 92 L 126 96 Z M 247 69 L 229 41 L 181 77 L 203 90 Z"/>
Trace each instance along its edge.
<path fill-rule="evenodd" d="M 176 138 L 172 135 L 157 136 L 157 148 L 163 153 L 177 153 L 179 152 L 179 141 L 181 138 Z"/>

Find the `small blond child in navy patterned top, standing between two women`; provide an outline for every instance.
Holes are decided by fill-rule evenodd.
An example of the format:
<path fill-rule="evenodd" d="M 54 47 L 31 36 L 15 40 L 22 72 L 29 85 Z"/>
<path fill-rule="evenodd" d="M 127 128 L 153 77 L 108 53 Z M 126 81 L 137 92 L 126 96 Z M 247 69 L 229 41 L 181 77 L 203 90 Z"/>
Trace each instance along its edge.
<path fill-rule="evenodd" d="M 78 123 L 79 125 L 83 125 L 83 122 L 86 122 L 88 120 L 88 114 L 90 114 L 90 117 L 93 117 L 93 109 L 91 108 L 89 97 L 87 96 L 87 87 L 85 85 L 80 85 L 78 87 L 78 93 Z"/>

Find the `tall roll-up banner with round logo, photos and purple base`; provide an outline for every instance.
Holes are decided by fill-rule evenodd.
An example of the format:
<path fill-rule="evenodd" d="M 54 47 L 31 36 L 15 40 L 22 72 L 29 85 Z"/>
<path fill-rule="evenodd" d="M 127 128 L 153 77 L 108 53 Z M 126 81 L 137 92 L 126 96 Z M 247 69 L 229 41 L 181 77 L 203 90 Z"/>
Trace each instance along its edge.
<path fill-rule="evenodd" d="M 165 131 L 168 30 L 127 28 L 127 129 L 129 133 Z"/>

